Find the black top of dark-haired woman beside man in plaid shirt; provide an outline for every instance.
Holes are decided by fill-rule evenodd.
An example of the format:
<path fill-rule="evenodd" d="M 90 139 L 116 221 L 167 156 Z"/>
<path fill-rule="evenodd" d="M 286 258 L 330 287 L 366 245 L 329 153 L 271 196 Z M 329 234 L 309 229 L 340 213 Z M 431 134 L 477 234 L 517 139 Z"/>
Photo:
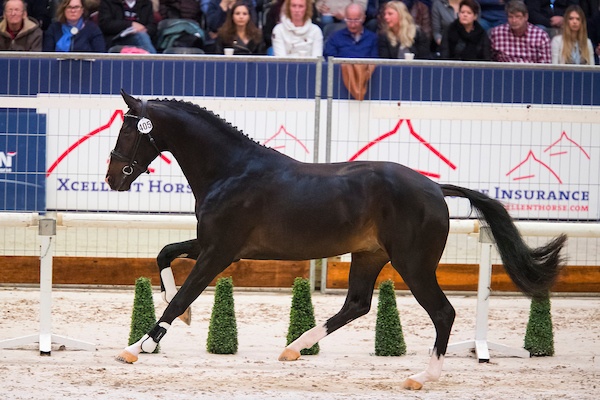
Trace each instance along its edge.
<path fill-rule="evenodd" d="M 458 19 L 442 36 L 441 58 L 445 60 L 489 61 L 492 59 L 490 39 L 479 22 L 467 32 Z"/>

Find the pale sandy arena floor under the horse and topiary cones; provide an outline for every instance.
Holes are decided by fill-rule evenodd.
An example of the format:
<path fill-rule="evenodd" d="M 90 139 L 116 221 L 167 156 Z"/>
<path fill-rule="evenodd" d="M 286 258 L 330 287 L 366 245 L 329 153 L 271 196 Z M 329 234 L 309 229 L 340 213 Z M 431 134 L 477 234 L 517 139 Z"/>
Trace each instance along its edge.
<path fill-rule="evenodd" d="M 476 298 L 449 296 L 457 310 L 451 343 L 473 338 Z M 428 363 L 431 321 L 410 295 L 398 308 L 408 347 L 403 357 L 376 357 L 377 298 L 371 312 L 323 339 L 321 353 L 281 363 L 291 293 L 236 291 L 239 333 L 236 355 L 205 350 L 213 292 L 193 305 L 191 326 L 177 320 L 160 354 L 142 354 L 134 365 L 116 362 L 127 345 L 133 288 L 55 289 L 53 333 L 96 345 L 96 351 L 37 344 L 0 349 L 3 399 L 598 399 L 600 393 L 600 298 L 552 300 L 554 357 L 512 358 L 491 352 L 480 364 L 469 351 L 448 354 L 439 382 L 418 392 L 400 383 Z M 333 315 L 344 297 L 313 294 L 317 323 Z M 155 294 L 157 313 L 164 309 Z M 36 333 L 39 291 L 0 288 L 0 340 Z M 522 347 L 530 302 L 494 296 L 488 340 Z"/>

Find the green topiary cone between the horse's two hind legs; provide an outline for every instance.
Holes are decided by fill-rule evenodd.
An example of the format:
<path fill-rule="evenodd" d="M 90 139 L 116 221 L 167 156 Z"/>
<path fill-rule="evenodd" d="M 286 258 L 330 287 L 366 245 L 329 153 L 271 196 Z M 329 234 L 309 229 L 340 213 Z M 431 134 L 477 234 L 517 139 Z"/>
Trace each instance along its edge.
<path fill-rule="evenodd" d="M 404 354 L 406 354 L 406 343 L 396 305 L 394 282 L 387 280 L 379 285 L 379 304 L 375 323 L 375 355 L 387 357 Z"/>

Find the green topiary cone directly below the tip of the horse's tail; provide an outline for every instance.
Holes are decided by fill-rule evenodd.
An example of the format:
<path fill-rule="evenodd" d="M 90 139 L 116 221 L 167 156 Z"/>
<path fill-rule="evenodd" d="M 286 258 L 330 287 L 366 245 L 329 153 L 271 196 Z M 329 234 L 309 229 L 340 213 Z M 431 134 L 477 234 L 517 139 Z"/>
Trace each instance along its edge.
<path fill-rule="evenodd" d="M 550 294 L 539 299 L 531 299 L 524 347 L 534 357 L 554 355 L 554 332 L 552 330 L 552 315 L 550 314 Z"/>

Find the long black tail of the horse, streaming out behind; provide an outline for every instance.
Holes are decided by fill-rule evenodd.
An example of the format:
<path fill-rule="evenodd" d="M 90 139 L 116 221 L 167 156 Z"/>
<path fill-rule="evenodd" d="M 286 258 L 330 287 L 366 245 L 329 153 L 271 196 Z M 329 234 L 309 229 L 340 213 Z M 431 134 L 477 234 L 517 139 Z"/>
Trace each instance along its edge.
<path fill-rule="evenodd" d="M 497 200 L 480 192 L 454 185 L 440 185 L 444 196 L 464 197 L 492 231 L 506 272 L 527 296 L 547 295 L 563 267 L 560 250 L 567 240 L 560 235 L 545 246 L 531 249 L 523 241 L 512 218 Z"/>

